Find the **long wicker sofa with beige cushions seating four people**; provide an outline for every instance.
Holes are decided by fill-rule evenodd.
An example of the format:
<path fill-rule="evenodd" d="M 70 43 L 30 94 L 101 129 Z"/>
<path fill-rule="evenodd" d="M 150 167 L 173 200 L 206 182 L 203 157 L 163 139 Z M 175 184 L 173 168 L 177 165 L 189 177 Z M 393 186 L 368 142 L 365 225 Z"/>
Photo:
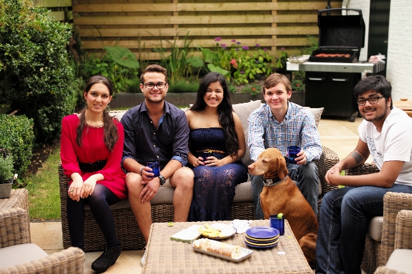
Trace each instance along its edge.
<path fill-rule="evenodd" d="M 233 110 L 240 116 L 242 125 L 244 127 L 245 136 L 247 138 L 247 118 L 249 114 L 259 108 L 261 105 L 260 100 L 252 101 L 249 103 L 240 103 L 233 105 Z M 317 117 L 317 123 L 319 123 L 321 110 L 314 109 L 313 112 L 315 118 Z M 124 112 L 114 112 L 113 115 L 117 116 L 117 119 L 121 119 Z M 242 159 L 244 165 L 250 164 L 252 161 L 249 156 L 249 149 L 247 150 L 247 155 Z M 318 173 L 320 178 L 319 184 L 319 204 L 320 207 L 321 197 L 332 190 L 333 188 L 325 182 L 325 173 L 330 169 L 336 162 L 339 161 L 338 155 L 323 147 L 323 153 L 321 159 L 317 161 Z M 69 229 L 67 226 L 67 213 L 66 213 L 66 203 L 67 203 L 67 185 L 69 183 L 69 178 L 63 174 L 62 167 L 59 166 L 59 181 L 60 181 L 60 201 L 61 201 L 61 219 L 62 219 L 62 234 L 63 234 L 63 246 L 70 247 L 70 237 Z M 159 222 L 169 222 L 173 221 L 173 188 L 162 187 L 159 189 L 155 197 L 150 201 L 152 206 L 152 220 L 155 223 Z M 130 203 L 128 200 L 122 201 L 111 206 L 113 218 L 115 219 L 115 226 L 119 242 L 122 243 L 124 249 L 142 249 L 145 246 L 145 240 L 143 235 L 139 230 L 139 226 L 135 221 L 135 217 L 130 208 Z M 84 225 L 84 249 L 85 251 L 98 251 L 103 249 L 105 243 L 104 237 L 97 223 L 95 223 L 89 206 L 85 208 L 85 225 Z M 231 206 L 231 219 L 255 219 L 255 209 L 253 206 L 252 193 L 251 193 L 251 182 L 239 184 L 236 186 L 236 195 L 233 199 L 233 204 Z"/>

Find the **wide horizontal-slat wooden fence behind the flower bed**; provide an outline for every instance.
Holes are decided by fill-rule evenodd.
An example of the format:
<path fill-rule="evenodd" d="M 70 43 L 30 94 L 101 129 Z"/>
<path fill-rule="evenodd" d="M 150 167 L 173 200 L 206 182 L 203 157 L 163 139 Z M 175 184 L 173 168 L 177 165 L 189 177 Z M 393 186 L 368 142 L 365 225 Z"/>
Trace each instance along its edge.
<path fill-rule="evenodd" d="M 37 0 L 38 2 L 41 0 Z M 52 0 L 43 0 L 52 1 Z M 55 0 L 57 1 L 57 0 Z M 70 1 L 70 0 L 59 0 Z M 72 0 L 73 25 L 82 48 L 102 52 L 105 46 L 126 47 L 139 60 L 159 60 L 159 49 L 176 42 L 183 47 L 214 47 L 214 38 L 231 45 L 235 39 L 278 56 L 282 48 L 299 54 L 307 36 L 317 36 L 317 10 L 325 0 Z M 342 1 L 332 1 L 341 8 Z"/>

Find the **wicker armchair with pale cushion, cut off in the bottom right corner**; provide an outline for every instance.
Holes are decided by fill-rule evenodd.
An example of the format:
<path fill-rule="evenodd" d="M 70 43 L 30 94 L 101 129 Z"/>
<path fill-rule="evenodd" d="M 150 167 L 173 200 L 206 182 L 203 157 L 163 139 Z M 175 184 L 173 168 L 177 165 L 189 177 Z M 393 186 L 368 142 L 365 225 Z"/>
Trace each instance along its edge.
<path fill-rule="evenodd" d="M 378 269 L 376 269 L 375 274 L 411 273 L 412 210 L 400 210 L 398 216 L 396 216 L 394 249 L 395 251 L 389 257 L 387 265 L 379 266 Z"/>

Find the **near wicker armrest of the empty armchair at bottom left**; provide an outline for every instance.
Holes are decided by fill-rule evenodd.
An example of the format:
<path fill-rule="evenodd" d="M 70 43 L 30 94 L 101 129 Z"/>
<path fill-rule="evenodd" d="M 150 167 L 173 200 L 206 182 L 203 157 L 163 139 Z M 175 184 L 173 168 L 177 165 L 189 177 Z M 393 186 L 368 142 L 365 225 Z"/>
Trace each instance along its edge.
<path fill-rule="evenodd" d="M 2 269 L 1 273 L 84 273 L 84 252 L 69 247 L 45 258 Z"/>

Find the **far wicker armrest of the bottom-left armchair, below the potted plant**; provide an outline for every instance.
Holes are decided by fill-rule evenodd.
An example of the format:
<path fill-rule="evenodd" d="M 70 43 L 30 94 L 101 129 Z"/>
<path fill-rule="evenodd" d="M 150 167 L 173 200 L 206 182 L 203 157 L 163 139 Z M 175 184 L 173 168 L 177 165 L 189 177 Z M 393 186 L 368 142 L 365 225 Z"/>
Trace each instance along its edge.
<path fill-rule="evenodd" d="M 0 248 L 30 243 L 27 222 L 22 208 L 0 210 Z"/>

